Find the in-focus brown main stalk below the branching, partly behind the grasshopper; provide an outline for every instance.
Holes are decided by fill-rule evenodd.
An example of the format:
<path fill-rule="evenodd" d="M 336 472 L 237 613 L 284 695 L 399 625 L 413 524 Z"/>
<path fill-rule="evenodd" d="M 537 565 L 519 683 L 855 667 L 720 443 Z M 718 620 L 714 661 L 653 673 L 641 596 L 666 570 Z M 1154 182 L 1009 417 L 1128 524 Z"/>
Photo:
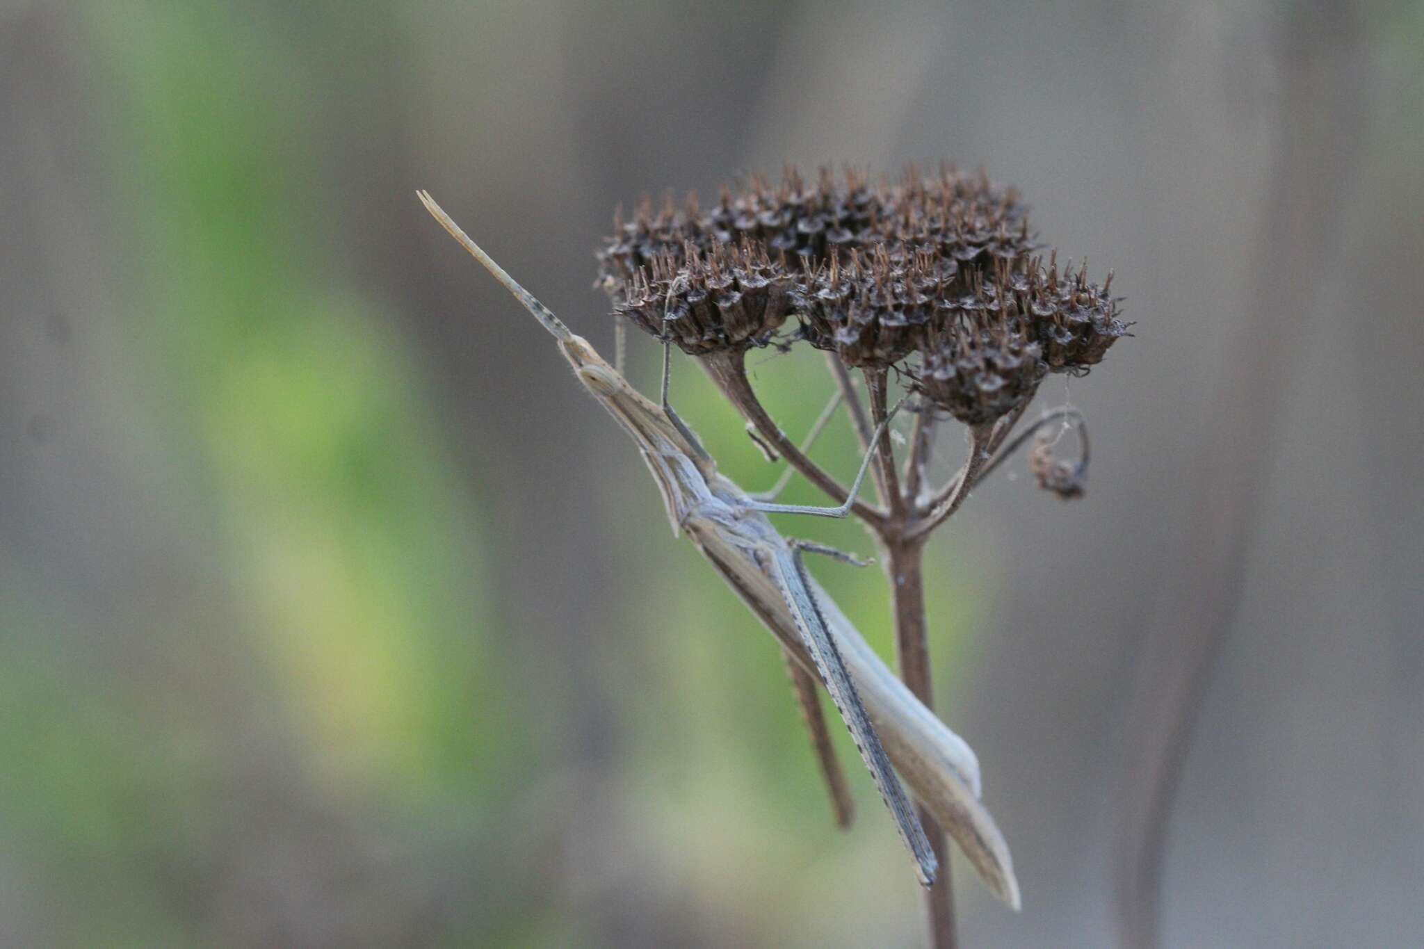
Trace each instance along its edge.
<path fill-rule="evenodd" d="M 900 657 L 900 679 L 910 691 L 934 710 L 934 690 L 930 682 L 930 640 L 924 617 L 924 545 L 920 542 L 886 542 L 886 569 L 894 600 L 896 653 Z M 930 915 L 930 945 L 934 949 L 954 949 L 958 936 L 954 926 L 954 884 L 950 874 L 950 851 L 944 845 L 944 831 L 934 815 L 918 808 L 924 834 L 940 861 L 940 875 L 924 892 Z"/>

